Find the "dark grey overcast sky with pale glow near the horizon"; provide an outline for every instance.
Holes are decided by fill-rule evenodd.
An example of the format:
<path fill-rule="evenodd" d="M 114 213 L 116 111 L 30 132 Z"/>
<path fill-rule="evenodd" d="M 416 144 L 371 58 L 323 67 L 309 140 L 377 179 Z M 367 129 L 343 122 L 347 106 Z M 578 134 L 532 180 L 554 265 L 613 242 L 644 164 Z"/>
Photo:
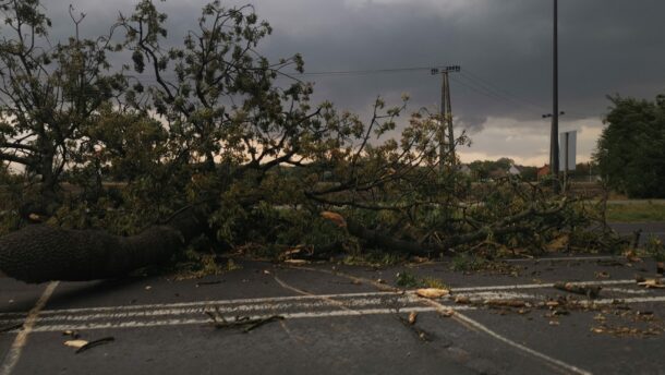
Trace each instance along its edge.
<path fill-rule="evenodd" d="M 108 28 L 134 1 L 72 0 L 86 12 L 83 29 Z M 222 1 L 240 5 L 247 1 Z M 69 35 L 68 2 L 45 0 L 52 36 Z M 158 2 L 180 39 L 205 1 Z M 451 82 L 458 131 L 473 144 L 464 161 L 548 159 L 552 111 L 552 0 L 254 0 L 274 33 L 261 50 L 271 58 L 300 52 L 307 72 L 459 64 Z M 589 159 L 609 102 L 606 95 L 653 99 L 665 93 L 665 1 L 560 0 L 561 131 L 577 130 L 578 161 Z M 367 113 L 377 95 L 411 110 L 437 109 L 440 76 L 427 70 L 307 76 L 315 100 Z"/>

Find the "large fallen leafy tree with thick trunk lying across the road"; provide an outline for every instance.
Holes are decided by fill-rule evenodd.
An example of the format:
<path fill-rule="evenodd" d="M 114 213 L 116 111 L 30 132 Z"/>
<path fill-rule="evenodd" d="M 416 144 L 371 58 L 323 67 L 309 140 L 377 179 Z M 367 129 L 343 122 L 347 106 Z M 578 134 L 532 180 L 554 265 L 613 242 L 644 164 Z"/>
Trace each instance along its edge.
<path fill-rule="evenodd" d="M 37 0 L 28 5 L 40 14 Z M 33 19 L 48 28 L 46 19 Z M 225 9 L 213 1 L 180 48 L 161 46 L 168 44 L 166 20 L 153 1 L 142 0 L 118 25 L 126 34 L 118 48 L 132 52 L 133 73 L 150 74 L 153 84 L 114 76 L 117 89 L 105 87 L 119 105 L 107 95 L 77 113 L 80 128 L 62 134 L 75 142 L 40 141 L 53 141 L 62 155 L 57 182 L 80 191 L 52 189 L 57 196 L 45 197 L 37 189 L 37 201 L 48 201 L 40 206 L 49 207 L 49 226 L 0 238 L 5 274 L 28 282 L 120 276 L 167 262 L 206 231 L 228 247 L 273 258 L 294 249 L 310 258 L 367 249 L 419 256 L 486 247 L 536 252 L 564 237 L 571 249 L 602 244 L 605 232 L 585 230 L 593 215 L 583 203 L 511 178 L 471 184 L 454 154 L 468 140 L 462 134 L 447 144 L 436 114 L 415 112 L 400 126 L 401 137 L 387 137 L 407 97 L 394 108 L 377 98 L 368 121 L 330 102 L 313 106 L 312 85 L 285 72 L 303 72 L 300 56 L 273 63 L 255 49 L 271 29 L 251 7 Z M 12 110 L 23 124 L 44 123 L 39 111 L 32 119 L 35 112 Z M 59 129 L 50 130 L 58 135 Z M 28 157 L 37 146 L 31 132 L 0 124 L 0 160 L 11 161 L 2 159 L 7 145 Z M 28 173 L 19 183 L 39 181 Z M 105 188 L 105 181 L 118 188 Z M 16 213 L 32 207 L 31 197 L 28 189 L 12 191 L 20 196 L 7 211 L 19 229 L 25 222 Z M 206 205 L 190 206 L 202 201 Z M 137 230 L 181 206 L 190 208 Z M 331 210 L 343 228 L 319 216 Z M 24 214 L 29 218 L 29 210 Z"/>

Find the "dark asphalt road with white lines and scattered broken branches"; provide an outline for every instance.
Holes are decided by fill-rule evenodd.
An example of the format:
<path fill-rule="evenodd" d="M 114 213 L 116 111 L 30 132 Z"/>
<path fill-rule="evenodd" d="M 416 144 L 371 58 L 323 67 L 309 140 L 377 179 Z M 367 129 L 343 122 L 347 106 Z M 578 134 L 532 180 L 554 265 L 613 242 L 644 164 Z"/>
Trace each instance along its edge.
<path fill-rule="evenodd" d="M 482 273 L 241 264 L 183 281 L 0 279 L 0 374 L 665 374 L 665 292 L 636 282 L 655 276 L 650 261 L 515 259 Z M 398 273 L 451 294 L 423 299 L 397 288 Z M 590 300 L 559 281 L 602 289 Z M 243 332 L 210 316 L 266 320 Z M 113 340 L 76 354 L 68 330 Z"/>

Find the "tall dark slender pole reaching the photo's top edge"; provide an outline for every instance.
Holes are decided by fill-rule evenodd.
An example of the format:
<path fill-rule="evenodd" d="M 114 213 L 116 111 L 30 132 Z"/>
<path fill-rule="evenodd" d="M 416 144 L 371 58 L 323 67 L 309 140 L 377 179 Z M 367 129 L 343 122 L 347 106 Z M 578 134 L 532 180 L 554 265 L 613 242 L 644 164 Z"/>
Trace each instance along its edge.
<path fill-rule="evenodd" d="M 558 39 L 558 0 L 554 0 L 554 62 L 553 62 L 553 100 L 552 132 L 549 134 L 549 169 L 553 177 L 554 193 L 559 193 L 559 39 Z"/>

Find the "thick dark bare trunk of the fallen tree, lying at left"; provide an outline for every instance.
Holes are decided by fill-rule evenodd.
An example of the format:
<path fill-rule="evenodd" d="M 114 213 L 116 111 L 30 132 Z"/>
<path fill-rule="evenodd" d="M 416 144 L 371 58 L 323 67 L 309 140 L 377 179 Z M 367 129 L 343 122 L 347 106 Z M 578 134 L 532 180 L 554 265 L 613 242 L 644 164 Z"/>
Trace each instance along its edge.
<path fill-rule="evenodd" d="M 207 227 L 205 215 L 196 208 L 132 237 L 28 226 L 0 238 L 0 270 L 31 283 L 118 277 L 168 262 Z"/>

